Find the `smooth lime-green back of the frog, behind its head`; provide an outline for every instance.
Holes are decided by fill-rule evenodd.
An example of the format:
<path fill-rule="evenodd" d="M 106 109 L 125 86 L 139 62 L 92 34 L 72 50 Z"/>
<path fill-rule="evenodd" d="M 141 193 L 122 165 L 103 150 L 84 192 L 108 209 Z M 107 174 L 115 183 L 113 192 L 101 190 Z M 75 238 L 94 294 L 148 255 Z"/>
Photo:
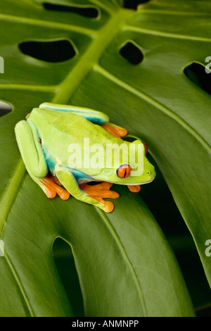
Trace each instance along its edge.
<path fill-rule="evenodd" d="M 66 167 L 68 167 L 70 145 L 76 144 L 75 146 L 79 146 L 82 156 L 86 154 L 84 139 L 89 140 L 89 146 L 96 143 L 102 146 L 122 144 L 122 139 L 113 137 L 103 127 L 91 123 L 81 115 L 34 108 L 28 120 L 37 127 L 46 161 L 60 163 Z"/>

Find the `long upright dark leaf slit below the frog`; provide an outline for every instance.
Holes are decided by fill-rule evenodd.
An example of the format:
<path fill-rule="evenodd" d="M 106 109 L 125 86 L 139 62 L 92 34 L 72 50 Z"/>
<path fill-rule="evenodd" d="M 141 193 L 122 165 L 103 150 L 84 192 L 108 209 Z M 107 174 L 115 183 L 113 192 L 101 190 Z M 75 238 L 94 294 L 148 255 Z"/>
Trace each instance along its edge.
<path fill-rule="evenodd" d="M 65 240 L 59 237 L 53 242 L 53 259 L 74 315 L 84 317 L 82 292 L 72 249 Z"/>

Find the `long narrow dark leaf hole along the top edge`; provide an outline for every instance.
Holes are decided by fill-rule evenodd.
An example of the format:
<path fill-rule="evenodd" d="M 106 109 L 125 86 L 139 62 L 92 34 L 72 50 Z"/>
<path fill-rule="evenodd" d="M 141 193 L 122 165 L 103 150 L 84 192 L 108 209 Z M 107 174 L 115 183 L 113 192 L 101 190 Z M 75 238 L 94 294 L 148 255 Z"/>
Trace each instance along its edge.
<path fill-rule="evenodd" d="M 72 12 L 87 18 L 98 18 L 100 15 L 100 10 L 94 6 L 65 6 L 49 4 L 48 2 L 44 2 L 43 6 L 48 11 Z"/>

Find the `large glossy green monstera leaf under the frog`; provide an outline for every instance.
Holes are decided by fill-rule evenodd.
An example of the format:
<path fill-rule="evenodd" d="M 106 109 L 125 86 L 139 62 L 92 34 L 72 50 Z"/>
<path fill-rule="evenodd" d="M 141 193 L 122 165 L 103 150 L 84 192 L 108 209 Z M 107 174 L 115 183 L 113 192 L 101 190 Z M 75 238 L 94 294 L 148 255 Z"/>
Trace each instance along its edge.
<path fill-rule="evenodd" d="M 194 316 L 144 189 L 115 187 L 110 214 L 72 197 L 49 200 L 25 171 L 14 126 L 53 101 L 103 111 L 143 139 L 211 282 L 211 98 L 202 82 L 210 15 L 210 1 L 134 11 L 121 0 L 1 0 L 0 99 L 13 111 L 0 119 L 0 316 L 77 315 L 53 260 L 56 238 L 72 248 L 85 316 Z"/>

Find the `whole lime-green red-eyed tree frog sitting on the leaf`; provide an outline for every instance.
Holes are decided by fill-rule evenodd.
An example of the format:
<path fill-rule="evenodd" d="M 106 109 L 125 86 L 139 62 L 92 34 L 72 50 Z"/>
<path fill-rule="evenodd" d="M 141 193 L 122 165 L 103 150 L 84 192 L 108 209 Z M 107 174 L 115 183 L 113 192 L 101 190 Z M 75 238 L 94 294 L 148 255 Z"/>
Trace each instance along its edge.
<path fill-rule="evenodd" d="M 49 199 L 58 195 L 66 201 L 74 196 L 106 213 L 114 209 L 110 200 L 120 196 L 113 185 L 126 185 L 138 193 L 141 185 L 155 178 L 146 143 L 139 138 L 129 142 L 127 137 L 127 129 L 111 123 L 106 113 L 49 102 L 33 108 L 15 125 L 27 173 Z M 107 150 L 108 146 L 114 147 Z M 122 146 L 127 153 L 121 152 Z"/>

